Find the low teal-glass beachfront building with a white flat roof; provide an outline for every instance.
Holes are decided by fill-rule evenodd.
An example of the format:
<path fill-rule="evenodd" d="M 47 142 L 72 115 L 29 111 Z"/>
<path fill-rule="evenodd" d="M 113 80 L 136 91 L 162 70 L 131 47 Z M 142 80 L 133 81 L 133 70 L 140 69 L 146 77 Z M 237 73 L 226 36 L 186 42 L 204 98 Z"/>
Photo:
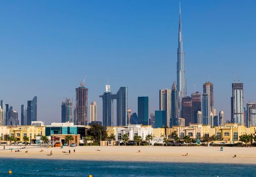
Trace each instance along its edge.
<path fill-rule="evenodd" d="M 74 125 L 73 122 L 56 123 L 46 125 L 46 136 L 51 135 L 80 135 L 81 138 L 86 137 L 87 125 Z"/>

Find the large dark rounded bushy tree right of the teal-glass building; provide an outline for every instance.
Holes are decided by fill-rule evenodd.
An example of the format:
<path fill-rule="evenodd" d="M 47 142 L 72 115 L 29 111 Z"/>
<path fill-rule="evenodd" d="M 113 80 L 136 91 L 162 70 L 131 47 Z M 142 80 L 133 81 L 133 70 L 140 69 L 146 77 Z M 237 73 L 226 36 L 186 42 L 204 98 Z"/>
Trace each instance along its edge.
<path fill-rule="evenodd" d="M 106 127 L 96 123 L 93 123 L 87 132 L 97 143 L 100 143 L 101 140 L 105 141 L 108 137 Z"/>

